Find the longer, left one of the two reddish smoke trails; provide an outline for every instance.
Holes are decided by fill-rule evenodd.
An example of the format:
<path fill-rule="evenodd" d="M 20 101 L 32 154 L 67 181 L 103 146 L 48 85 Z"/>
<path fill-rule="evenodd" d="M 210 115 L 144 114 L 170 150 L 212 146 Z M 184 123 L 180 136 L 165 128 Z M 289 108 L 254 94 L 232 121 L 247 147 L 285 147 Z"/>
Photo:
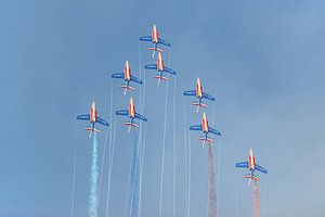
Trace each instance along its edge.
<path fill-rule="evenodd" d="M 216 192 L 216 177 L 213 169 L 213 153 L 209 145 L 209 208 L 208 217 L 217 217 L 217 192 Z"/>

